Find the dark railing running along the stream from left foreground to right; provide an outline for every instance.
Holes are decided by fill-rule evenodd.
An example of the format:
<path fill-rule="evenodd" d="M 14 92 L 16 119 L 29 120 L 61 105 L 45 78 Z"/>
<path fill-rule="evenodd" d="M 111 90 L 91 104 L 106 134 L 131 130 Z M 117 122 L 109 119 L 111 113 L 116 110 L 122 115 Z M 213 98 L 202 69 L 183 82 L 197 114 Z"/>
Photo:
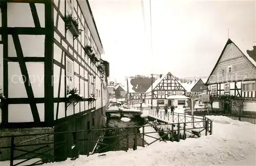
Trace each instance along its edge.
<path fill-rule="evenodd" d="M 149 110 L 149 115 L 157 116 L 157 113 L 153 110 Z M 186 135 L 199 135 L 202 131 L 205 131 L 205 135 L 212 134 L 212 121 L 207 118 L 184 114 L 172 114 L 168 113 L 165 115 L 163 112 L 159 112 L 158 116 L 163 116 L 166 120 L 172 117 L 172 123 L 166 124 L 150 124 L 144 126 L 130 126 L 130 127 L 119 127 L 119 128 L 103 128 L 94 130 L 80 130 L 80 131 L 62 131 L 62 132 L 48 132 L 48 133 L 35 133 L 35 134 L 24 134 L 24 135 L 5 135 L 0 136 L 0 143 L 8 142 L 8 146 L 0 147 L 0 151 L 3 154 L 8 153 L 10 155 L 10 166 L 16 166 L 20 164 L 28 163 L 27 165 L 39 165 L 46 162 L 61 161 L 67 159 L 67 157 L 77 158 L 79 154 L 81 155 L 91 155 L 94 153 L 100 153 L 103 149 L 108 147 L 114 147 L 118 150 L 127 151 L 129 147 L 129 139 L 134 138 L 134 150 L 137 149 L 137 137 L 140 135 L 142 139 L 142 147 L 145 145 L 151 145 L 157 141 L 166 142 L 163 139 L 166 135 L 170 135 L 170 141 L 176 140 L 180 141 L 181 137 L 185 140 Z M 145 128 L 151 126 L 154 128 L 164 128 L 155 132 L 146 132 Z M 142 132 L 139 132 L 139 128 L 142 128 Z M 132 130 L 129 132 L 127 129 Z M 126 134 L 119 134 L 121 131 L 127 130 Z M 111 135 L 106 135 L 105 133 L 112 133 Z M 160 137 L 154 137 L 150 135 L 151 133 L 162 133 Z M 82 133 L 82 134 L 79 134 Z M 95 134 L 96 133 L 96 134 Z M 58 136 L 73 135 L 72 143 L 69 140 L 56 142 L 54 138 Z M 78 135 L 78 136 L 77 136 Z M 100 135 L 99 137 L 94 137 L 94 135 Z M 155 139 L 153 142 L 146 142 L 145 136 Z M 18 142 L 17 140 L 23 137 L 23 142 Z M 50 137 L 52 139 L 46 139 L 48 141 L 36 143 L 36 140 L 40 140 L 44 137 Z M 116 147 L 110 144 L 104 144 L 99 142 L 99 139 L 108 139 L 115 137 L 123 137 L 126 140 L 126 145 L 123 147 Z M 18 139 L 19 138 L 19 139 Z M 26 139 L 27 138 L 27 139 Z M 101 149 L 93 152 L 92 145 L 101 145 Z M 3 144 L 2 144 L 3 145 Z M 103 146 L 103 147 L 102 147 Z M 75 148 L 73 148 L 75 147 Z M 75 149 L 75 150 L 74 150 Z M 0 155 L 1 158 L 1 155 Z M 36 161 L 31 161 L 32 159 L 38 158 Z M 23 159 L 19 160 L 18 159 Z M 0 161 L 1 163 L 1 161 Z"/>

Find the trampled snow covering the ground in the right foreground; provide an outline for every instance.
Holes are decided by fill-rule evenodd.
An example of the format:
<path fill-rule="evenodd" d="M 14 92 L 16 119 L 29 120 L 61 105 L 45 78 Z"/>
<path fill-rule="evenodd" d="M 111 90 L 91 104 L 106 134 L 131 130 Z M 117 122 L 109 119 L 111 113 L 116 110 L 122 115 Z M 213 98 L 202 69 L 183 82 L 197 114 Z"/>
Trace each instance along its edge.
<path fill-rule="evenodd" d="M 209 118 L 214 119 L 213 134 L 199 139 L 156 142 L 135 151 L 79 156 L 74 161 L 45 165 L 255 165 L 256 125 L 245 122 L 235 125 L 223 117 Z M 232 123 L 223 124 L 223 121 Z"/>

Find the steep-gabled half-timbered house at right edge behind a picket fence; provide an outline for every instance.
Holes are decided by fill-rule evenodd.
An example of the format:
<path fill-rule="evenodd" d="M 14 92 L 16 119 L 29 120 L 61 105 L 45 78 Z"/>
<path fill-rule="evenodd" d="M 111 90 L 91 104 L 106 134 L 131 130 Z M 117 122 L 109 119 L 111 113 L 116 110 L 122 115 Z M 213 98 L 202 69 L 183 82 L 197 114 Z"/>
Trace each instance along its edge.
<path fill-rule="evenodd" d="M 228 39 L 206 85 L 210 95 L 234 96 L 237 100 L 246 103 L 243 107 L 244 111 L 252 113 L 256 112 L 256 62 L 245 51 Z M 222 107 L 221 104 L 220 106 Z M 224 109 L 228 112 L 236 110 L 232 103 L 225 104 Z"/>

